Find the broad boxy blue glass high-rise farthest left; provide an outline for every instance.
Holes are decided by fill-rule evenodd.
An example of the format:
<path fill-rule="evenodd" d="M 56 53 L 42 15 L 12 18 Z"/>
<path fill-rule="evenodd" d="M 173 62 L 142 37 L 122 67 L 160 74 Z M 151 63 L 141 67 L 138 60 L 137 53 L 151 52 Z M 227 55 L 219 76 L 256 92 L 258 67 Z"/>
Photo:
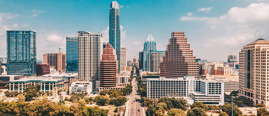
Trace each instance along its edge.
<path fill-rule="evenodd" d="M 36 32 L 7 31 L 8 75 L 35 75 L 36 57 Z"/>

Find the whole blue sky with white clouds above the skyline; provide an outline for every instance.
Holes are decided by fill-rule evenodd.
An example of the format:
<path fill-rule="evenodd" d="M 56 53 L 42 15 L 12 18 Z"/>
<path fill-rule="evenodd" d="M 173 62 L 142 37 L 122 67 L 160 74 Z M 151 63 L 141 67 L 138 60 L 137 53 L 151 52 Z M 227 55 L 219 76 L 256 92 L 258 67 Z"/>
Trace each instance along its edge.
<path fill-rule="evenodd" d="M 66 51 L 66 37 L 78 31 L 100 32 L 108 42 L 110 0 L 0 0 L 0 57 L 6 57 L 6 30 L 37 32 L 37 59 Z M 269 40 L 268 0 L 119 0 L 121 47 L 127 58 L 143 51 L 152 34 L 157 50 L 166 50 L 173 31 L 184 31 L 196 58 L 227 61 L 244 45 Z"/>

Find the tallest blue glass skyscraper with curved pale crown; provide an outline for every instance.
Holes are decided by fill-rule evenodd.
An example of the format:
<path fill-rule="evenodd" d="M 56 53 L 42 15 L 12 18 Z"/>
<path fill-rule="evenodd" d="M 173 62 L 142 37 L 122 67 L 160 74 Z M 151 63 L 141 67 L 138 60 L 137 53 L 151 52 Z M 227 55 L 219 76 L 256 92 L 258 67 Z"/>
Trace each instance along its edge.
<path fill-rule="evenodd" d="M 116 50 L 117 60 L 119 61 L 119 72 L 121 64 L 121 12 L 119 3 L 112 1 L 109 9 L 109 43 Z"/>

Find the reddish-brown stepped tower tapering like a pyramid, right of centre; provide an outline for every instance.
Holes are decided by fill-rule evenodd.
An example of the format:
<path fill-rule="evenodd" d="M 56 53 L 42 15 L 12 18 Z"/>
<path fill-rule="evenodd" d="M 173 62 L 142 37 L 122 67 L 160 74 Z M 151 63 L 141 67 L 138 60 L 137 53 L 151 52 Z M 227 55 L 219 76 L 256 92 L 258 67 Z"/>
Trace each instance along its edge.
<path fill-rule="evenodd" d="M 171 33 L 163 61 L 160 63 L 161 77 L 177 78 L 185 75 L 199 77 L 199 64 L 185 36 L 185 32 Z"/>

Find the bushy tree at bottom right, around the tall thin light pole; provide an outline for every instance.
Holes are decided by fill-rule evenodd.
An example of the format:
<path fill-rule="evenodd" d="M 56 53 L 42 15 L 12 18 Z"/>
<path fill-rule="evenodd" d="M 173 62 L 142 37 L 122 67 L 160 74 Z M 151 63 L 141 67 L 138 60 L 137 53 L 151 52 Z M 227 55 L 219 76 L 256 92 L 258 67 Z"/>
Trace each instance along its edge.
<path fill-rule="evenodd" d="M 229 116 L 232 116 L 232 105 L 224 104 L 223 106 L 219 106 L 223 112 L 226 112 Z M 233 116 L 239 116 L 242 112 L 239 110 L 237 105 L 233 105 Z"/>

